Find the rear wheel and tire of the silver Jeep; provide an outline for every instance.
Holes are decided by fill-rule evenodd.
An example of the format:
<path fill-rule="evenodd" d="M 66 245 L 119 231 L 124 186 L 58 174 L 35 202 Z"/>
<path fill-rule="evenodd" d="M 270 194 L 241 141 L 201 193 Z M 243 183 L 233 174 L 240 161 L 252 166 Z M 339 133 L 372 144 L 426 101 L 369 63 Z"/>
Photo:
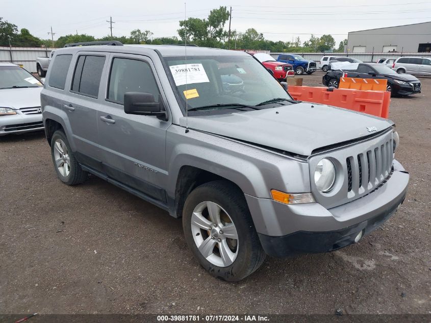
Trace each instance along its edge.
<path fill-rule="evenodd" d="M 57 130 L 51 139 L 51 155 L 57 176 L 64 184 L 75 185 L 83 183 L 88 173 L 78 164 L 73 155 L 69 141 L 62 130 Z"/>

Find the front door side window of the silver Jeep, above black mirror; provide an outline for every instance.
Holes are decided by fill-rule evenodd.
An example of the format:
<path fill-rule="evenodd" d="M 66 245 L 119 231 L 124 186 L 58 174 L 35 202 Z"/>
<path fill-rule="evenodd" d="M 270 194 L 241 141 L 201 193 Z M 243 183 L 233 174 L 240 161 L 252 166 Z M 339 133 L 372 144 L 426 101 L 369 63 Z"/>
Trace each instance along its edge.
<path fill-rule="evenodd" d="M 108 99 L 123 104 L 126 92 L 151 93 L 156 102 L 159 102 L 159 88 L 147 63 L 114 58 L 109 77 Z"/>

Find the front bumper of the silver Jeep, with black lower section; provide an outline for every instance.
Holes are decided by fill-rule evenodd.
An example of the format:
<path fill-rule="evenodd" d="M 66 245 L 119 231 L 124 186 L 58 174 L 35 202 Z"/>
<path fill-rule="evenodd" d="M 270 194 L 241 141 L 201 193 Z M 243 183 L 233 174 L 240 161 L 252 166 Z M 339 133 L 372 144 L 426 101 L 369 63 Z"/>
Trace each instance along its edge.
<path fill-rule="evenodd" d="M 274 257 L 336 250 L 391 217 L 404 201 L 409 174 L 394 160 L 381 187 L 358 200 L 325 209 L 318 203 L 286 205 L 245 195 L 265 252 Z"/>

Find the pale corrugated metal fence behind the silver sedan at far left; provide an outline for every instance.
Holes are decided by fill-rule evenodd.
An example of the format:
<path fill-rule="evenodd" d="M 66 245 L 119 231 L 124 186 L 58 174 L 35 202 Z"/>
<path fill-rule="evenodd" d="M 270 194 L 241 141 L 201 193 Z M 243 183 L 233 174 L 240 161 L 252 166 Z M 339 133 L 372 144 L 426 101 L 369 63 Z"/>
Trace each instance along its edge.
<path fill-rule="evenodd" d="M 36 57 L 48 57 L 52 48 L 0 47 L 0 62 L 23 65 L 29 72 L 36 72 Z M 12 55 L 12 60 L 11 60 Z"/>

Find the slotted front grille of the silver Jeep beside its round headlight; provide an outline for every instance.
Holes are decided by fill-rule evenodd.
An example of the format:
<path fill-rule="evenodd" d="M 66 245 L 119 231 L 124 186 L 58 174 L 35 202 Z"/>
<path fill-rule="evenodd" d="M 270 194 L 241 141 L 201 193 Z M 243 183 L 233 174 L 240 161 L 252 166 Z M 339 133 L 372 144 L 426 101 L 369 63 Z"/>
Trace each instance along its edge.
<path fill-rule="evenodd" d="M 391 173 L 393 154 L 393 140 L 390 139 L 366 152 L 347 157 L 347 197 L 370 191 L 385 181 Z M 363 167 L 368 171 L 363 171 Z"/>

